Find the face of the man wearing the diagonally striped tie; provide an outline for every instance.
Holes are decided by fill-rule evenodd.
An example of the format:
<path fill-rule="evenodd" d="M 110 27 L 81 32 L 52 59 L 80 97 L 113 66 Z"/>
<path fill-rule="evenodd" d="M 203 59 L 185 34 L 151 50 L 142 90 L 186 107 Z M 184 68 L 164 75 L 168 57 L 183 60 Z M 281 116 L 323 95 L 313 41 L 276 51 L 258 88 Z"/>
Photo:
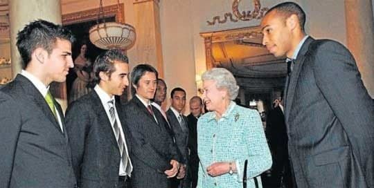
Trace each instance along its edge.
<path fill-rule="evenodd" d="M 125 62 L 114 60 L 114 71 L 111 75 L 101 72 L 100 87 L 112 97 L 122 95 L 125 88 L 129 86 L 129 65 Z"/>

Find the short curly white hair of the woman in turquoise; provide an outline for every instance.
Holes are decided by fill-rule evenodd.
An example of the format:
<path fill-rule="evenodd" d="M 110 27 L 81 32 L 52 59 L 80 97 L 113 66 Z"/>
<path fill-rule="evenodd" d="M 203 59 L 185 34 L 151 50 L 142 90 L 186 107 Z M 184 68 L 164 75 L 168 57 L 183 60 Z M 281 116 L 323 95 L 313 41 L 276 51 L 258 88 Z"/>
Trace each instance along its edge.
<path fill-rule="evenodd" d="M 239 86 L 235 77 L 226 68 L 212 68 L 202 75 L 202 81 L 213 80 L 217 88 L 226 88 L 231 100 L 235 100 L 239 93 Z"/>

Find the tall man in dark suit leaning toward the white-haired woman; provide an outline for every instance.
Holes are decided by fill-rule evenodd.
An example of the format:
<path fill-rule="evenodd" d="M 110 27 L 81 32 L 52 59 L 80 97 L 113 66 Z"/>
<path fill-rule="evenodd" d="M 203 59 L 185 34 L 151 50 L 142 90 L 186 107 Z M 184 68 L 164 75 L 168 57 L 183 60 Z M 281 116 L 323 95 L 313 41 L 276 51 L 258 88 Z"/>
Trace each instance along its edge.
<path fill-rule="evenodd" d="M 373 101 L 349 50 L 305 35 L 296 3 L 271 8 L 261 21 L 270 53 L 286 55 L 288 150 L 297 187 L 374 187 Z"/>

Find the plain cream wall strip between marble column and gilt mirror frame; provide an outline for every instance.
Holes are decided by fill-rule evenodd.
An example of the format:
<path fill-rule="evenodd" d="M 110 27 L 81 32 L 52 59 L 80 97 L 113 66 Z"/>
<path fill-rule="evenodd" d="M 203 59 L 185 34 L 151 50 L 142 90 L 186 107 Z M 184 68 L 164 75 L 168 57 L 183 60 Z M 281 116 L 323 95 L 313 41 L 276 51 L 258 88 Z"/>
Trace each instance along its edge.
<path fill-rule="evenodd" d="M 163 73 L 168 86 L 166 97 L 170 105 L 170 91 L 181 87 L 186 90 L 186 101 L 196 93 L 195 84 L 195 55 L 193 45 L 193 18 L 191 1 L 172 0 L 161 1 L 161 41 L 163 50 Z M 185 112 L 188 113 L 188 104 Z"/>

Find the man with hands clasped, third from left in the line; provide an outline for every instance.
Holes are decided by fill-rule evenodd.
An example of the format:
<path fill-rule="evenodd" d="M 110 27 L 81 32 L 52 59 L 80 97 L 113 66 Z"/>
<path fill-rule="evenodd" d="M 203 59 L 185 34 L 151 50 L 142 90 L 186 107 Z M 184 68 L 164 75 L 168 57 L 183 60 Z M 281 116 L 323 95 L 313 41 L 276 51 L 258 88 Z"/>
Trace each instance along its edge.
<path fill-rule="evenodd" d="M 178 149 L 168 133 L 168 124 L 150 100 L 157 86 L 157 71 L 148 64 L 134 67 L 131 80 L 135 90 L 132 100 L 125 104 L 126 122 L 133 135 L 132 187 L 170 187 L 169 178 L 179 169 Z"/>

